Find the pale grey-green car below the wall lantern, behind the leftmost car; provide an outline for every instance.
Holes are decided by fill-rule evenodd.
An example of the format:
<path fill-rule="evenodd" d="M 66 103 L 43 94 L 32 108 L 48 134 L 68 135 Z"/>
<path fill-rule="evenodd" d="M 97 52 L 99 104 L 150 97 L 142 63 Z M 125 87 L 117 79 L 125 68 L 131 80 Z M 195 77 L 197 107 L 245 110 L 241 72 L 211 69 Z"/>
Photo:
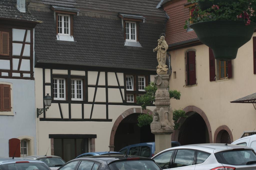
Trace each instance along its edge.
<path fill-rule="evenodd" d="M 33 156 L 24 156 L 23 158 L 25 159 L 33 159 L 33 160 L 39 160 L 42 161 L 44 163 L 46 163 L 46 165 L 48 165 L 50 167 L 50 169 L 52 170 L 56 170 L 58 169 L 60 166 L 62 166 L 63 164 L 65 164 L 66 162 L 63 161 L 63 159 L 59 156 L 54 156 L 54 155 L 33 155 Z"/>

